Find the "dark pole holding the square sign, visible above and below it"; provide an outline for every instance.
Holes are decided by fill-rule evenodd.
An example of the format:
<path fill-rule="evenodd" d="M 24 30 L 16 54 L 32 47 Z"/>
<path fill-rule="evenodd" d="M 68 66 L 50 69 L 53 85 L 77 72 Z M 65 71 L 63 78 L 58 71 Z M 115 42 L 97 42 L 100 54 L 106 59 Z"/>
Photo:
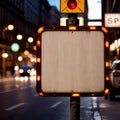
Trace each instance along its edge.
<path fill-rule="evenodd" d="M 78 26 L 77 14 L 68 14 L 67 26 Z M 70 120 L 80 120 L 80 97 L 70 97 Z"/>

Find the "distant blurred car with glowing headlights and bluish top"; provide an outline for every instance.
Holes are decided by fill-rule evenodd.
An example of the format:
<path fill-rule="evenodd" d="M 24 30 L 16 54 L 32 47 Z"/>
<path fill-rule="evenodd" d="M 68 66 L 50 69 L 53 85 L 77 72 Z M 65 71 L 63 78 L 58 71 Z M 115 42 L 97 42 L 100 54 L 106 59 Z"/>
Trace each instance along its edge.
<path fill-rule="evenodd" d="M 32 66 L 23 65 L 19 68 L 20 76 L 30 76 Z"/>

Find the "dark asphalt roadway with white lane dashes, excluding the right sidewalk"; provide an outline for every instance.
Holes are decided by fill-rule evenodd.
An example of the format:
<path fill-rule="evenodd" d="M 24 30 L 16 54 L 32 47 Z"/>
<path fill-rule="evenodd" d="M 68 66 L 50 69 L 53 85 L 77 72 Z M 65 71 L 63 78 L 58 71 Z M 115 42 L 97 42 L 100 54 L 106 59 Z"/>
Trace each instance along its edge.
<path fill-rule="evenodd" d="M 35 79 L 6 78 L 0 80 L 1 120 L 69 120 L 69 97 L 40 97 Z M 81 119 L 91 117 L 89 99 L 83 98 Z M 85 102 L 84 102 L 85 101 Z"/>

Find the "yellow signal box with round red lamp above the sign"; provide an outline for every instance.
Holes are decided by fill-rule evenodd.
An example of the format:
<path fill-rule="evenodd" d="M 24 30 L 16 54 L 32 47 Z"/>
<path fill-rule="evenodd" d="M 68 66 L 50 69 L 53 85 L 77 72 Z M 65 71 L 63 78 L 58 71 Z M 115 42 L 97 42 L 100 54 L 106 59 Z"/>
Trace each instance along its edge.
<path fill-rule="evenodd" d="M 84 0 L 61 0 L 61 13 L 84 13 Z"/>

